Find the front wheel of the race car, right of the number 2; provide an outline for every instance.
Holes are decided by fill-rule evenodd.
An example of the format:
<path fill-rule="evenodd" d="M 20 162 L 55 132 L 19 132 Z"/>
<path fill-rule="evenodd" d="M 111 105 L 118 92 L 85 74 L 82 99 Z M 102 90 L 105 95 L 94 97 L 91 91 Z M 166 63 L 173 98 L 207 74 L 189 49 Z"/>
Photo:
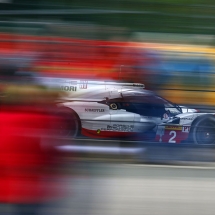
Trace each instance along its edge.
<path fill-rule="evenodd" d="M 197 117 L 192 124 L 190 138 L 194 144 L 215 144 L 215 117 L 209 114 Z"/>

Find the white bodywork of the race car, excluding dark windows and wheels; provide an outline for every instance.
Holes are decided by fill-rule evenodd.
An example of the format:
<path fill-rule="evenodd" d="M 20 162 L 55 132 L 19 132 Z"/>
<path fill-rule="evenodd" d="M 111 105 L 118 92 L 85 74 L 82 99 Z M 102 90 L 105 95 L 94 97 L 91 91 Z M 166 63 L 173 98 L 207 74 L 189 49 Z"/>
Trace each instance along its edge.
<path fill-rule="evenodd" d="M 68 78 L 41 78 L 46 85 L 59 87 L 62 92 L 60 106 L 75 111 L 81 121 L 82 131 L 91 132 L 92 136 L 102 135 L 114 137 L 158 131 L 160 125 L 171 125 L 176 118 L 180 118 L 177 126 L 191 126 L 196 117 L 206 114 L 195 109 L 177 106 L 180 112 L 173 116 L 147 116 L 126 110 L 123 107 L 111 108 L 114 99 L 126 99 L 123 95 L 129 93 L 137 96 L 147 92 L 143 84 L 117 83 L 105 81 L 73 80 Z M 136 95 L 137 94 L 137 95 Z M 182 129 L 183 130 L 183 129 Z M 160 132 L 160 131 L 159 131 Z M 185 129 L 186 132 L 186 129 Z M 109 135 L 110 134 L 110 135 Z M 159 134 L 160 135 L 160 134 Z"/>

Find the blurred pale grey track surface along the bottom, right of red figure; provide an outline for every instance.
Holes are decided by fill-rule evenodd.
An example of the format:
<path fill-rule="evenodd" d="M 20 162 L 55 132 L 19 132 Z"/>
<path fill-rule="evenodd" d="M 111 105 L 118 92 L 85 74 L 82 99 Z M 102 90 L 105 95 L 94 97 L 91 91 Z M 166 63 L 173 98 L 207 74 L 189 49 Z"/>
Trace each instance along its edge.
<path fill-rule="evenodd" d="M 69 180 L 71 195 L 52 208 L 52 214 L 209 215 L 215 211 L 215 167 L 82 162 L 75 169 L 77 174 Z"/>

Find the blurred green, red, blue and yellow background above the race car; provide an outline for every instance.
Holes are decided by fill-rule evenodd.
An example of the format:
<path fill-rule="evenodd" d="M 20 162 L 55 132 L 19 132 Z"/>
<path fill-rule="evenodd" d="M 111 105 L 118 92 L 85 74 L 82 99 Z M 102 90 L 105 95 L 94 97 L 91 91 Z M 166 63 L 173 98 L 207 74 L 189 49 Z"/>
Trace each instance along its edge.
<path fill-rule="evenodd" d="M 211 0 L 2 0 L 0 55 L 25 70 L 143 82 L 214 105 Z"/>

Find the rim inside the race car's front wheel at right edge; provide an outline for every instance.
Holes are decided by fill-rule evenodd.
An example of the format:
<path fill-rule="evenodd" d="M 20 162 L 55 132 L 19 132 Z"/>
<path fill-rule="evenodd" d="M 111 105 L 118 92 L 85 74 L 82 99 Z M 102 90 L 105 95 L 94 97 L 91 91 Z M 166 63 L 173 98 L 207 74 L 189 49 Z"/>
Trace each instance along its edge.
<path fill-rule="evenodd" d="M 215 143 L 215 126 L 213 122 L 202 123 L 196 128 L 196 140 L 199 144 Z"/>

